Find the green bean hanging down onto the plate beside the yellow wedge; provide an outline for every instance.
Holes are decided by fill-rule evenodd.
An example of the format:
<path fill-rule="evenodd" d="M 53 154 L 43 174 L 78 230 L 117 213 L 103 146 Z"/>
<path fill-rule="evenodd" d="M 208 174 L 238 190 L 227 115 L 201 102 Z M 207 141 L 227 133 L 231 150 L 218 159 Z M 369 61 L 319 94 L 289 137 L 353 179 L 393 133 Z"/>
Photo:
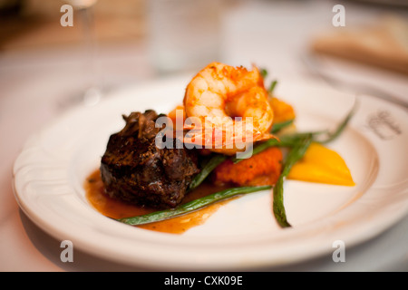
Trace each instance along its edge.
<path fill-rule="evenodd" d="M 287 214 L 284 205 L 284 179 L 289 174 L 293 165 L 305 155 L 306 150 L 312 140 L 312 134 L 306 135 L 289 151 L 282 172 L 279 175 L 277 183 L 273 189 L 273 212 L 280 227 L 291 227 L 291 225 L 287 222 Z"/>

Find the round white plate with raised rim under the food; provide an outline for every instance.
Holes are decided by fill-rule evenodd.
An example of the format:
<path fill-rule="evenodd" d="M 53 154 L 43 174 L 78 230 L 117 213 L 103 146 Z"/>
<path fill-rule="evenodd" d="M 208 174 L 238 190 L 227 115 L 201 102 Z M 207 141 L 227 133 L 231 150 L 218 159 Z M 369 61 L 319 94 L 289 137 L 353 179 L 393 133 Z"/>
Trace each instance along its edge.
<path fill-rule="evenodd" d="M 115 92 L 94 107 L 67 112 L 35 134 L 15 161 L 15 198 L 36 225 L 74 248 L 133 266 L 168 270 L 236 270 L 285 265 L 351 247 L 390 227 L 408 208 L 408 116 L 368 96 L 343 135 L 329 145 L 345 159 L 355 187 L 287 180 L 287 218 L 281 229 L 272 215 L 270 191 L 250 194 L 219 208 L 183 235 L 131 227 L 94 210 L 83 182 L 121 114 L 179 104 L 188 78 Z M 334 128 L 354 96 L 312 83 L 281 81 L 277 93 L 294 105 L 299 131 Z"/>

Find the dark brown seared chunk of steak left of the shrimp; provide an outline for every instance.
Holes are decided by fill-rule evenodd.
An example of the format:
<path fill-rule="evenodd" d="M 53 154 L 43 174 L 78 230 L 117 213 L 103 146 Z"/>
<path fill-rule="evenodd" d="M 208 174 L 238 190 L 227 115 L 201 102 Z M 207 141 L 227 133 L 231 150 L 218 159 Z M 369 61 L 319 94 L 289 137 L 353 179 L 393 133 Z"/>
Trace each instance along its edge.
<path fill-rule="evenodd" d="M 124 128 L 111 135 L 101 161 L 106 193 L 113 198 L 155 208 L 180 204 L 191 179 L 199 172 L 197 150 L 159 149 L 155 111 L 123 116 Z"/>

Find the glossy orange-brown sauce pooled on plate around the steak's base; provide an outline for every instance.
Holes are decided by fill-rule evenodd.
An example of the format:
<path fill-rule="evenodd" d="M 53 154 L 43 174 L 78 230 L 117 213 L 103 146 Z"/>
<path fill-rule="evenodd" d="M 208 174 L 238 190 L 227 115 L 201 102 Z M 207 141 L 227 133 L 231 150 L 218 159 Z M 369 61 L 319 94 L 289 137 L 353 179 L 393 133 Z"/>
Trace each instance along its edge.
<path fill-rule="evenodd" d="M 97 169 L 85 180 L 84 189 L 86 191 L 86 198 L 91 203 L 92 207 L 99 211 L 103 216 L 109 218 L 129 218 L 141 216 L 157 209 L 145 208 L 125 203 L 121 200 L 110 198 L 104 192 L 104 186 L 101 179 L 100 170 Z M 202 184 L 198 189 L 191 191 L 182 201 L 182 203 L 209 195 L 220 190 L 227 189 L 226 187 L 215 187 L 209 184 Z M 191 227 L 202 225 L 213 213 L 215 213 L 222 204 L 228 200 L 210 205 L 191 212 L 189 214 L 154 222 L 146 225 L 136 226 L 154 231 L 182 234 Z"/>

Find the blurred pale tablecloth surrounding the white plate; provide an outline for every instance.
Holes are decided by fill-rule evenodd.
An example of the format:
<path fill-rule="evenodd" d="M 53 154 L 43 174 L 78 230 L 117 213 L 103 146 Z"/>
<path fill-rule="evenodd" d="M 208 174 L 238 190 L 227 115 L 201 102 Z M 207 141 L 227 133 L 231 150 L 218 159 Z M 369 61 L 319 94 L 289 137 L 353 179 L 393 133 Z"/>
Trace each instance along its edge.
<path fill-rule="evenodd" d="M 322 28 L 333 28 L 331 1 L 228 1 L 222 14 L 224 63 L 261 63 L 282 80 L 310 79 L 329 85 L 302 61 L 310 39 Z M 407 15 L 407 10 L 384 5 L 345 2 L 346 25 L 374 21 L 384 12 Z M 124 9 L 125 11 L 125 9 Z M 58 17 L 59 11 L 56 12 Z M 144 271 L 87 253 L 75 252 L 73 263 L 60 260 L 60 242 L 36 227 L 19 209 L 12 189 L 12 168 L 24 141 L 70 106 L 75 93 L 92 82 L 83 68 L 78 36 L 57 23 L 30 27 L 24 34 L 2 40 L 0 52 L 0 270 L 1 271 Z M 108 24 L 112 24 L 109 26 Z M 147 35 L 138 22 L 111 22 L 99 35 L 97 69 L 104 90 L 165 77 L 156 73 L 148 57 Z M 30 25 L 30 24 L 27 24 Z M 124 27 L 119 34 L 118 27 Z M 134 25 L 132 28 L 131 25 Z M 110 27 L 107 29 L 106 27 Z M 58 29 L 59 30 L 58 30 Z M 65 33 L 61 34 L 61 32 Z M 37 37 L 37 36 L 38 37 Z M 41 35 L 41 37 L 40 37 Z M 48 38 L 47 38 L 48 35 Z M 117 38 L 115 38 L 117 37 Z M 329 61 L 322 70 L 339 72 L 344 81 L 381 88 L 408 102 L 408 78 L 355 63 Z M 353 90 L 352 88 L 350 90 Z M 403 152 L 406 154 L 406 152 Z M 331 256 L 271 271 L 406 271 L 408 218 L 381 235 L 347 249 L 346 262 Z"/>

